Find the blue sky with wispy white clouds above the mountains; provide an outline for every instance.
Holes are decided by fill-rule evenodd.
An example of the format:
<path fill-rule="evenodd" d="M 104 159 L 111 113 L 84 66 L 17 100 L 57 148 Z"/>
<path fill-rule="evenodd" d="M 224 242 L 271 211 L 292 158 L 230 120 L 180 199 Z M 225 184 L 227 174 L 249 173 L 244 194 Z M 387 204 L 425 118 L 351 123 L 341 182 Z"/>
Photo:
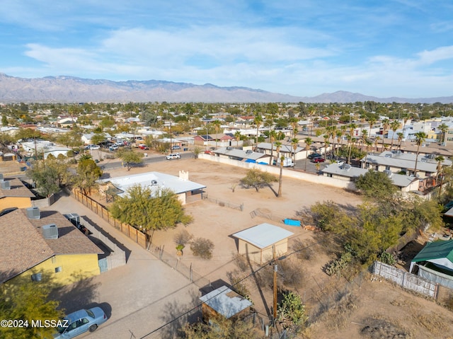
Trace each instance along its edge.
<path fill-rule="evenodd" d="M 0 72 L 453 96 L 451 0 L 0 0 Z"/>

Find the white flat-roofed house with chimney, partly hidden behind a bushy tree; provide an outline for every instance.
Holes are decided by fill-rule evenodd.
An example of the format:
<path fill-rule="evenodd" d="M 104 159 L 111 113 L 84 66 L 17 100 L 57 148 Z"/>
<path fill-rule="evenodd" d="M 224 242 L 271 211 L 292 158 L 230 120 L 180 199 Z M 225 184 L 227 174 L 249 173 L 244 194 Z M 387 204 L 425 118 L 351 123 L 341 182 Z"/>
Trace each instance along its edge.
<path fill-rule="evenodd" d="M 178 177 L 160 172 L 147 172 L 132 176 L 102 179 L 98 180 L 98 183 L 101 185 L 110 183 L 117 189 L 117 195 L 120 197 L 127 195 L 127 190 L 134 185 L 149 188 L 151 196 L 163 188 L 168 188 L 178 195 L 178 199 L 183 205 L 187 202 L 188 197 L 194 195 L 199 195 L 200 199 L 202 199 L 203 189 L 206 188 L 205 185 L 190 181 L 189 173 L 185 171 L 179 171 Z"/>

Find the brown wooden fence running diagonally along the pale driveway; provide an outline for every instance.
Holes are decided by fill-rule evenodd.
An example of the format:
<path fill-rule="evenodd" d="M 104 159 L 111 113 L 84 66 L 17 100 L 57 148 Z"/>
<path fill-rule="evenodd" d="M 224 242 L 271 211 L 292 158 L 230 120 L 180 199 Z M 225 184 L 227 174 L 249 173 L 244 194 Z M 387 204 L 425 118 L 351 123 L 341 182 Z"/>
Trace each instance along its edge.
<path fill-rule="evenodd" d="M 74 193 L 74 197 L 77 201 L 84 204 L 86 207 L 98 214 L 99 217 L 115 227 L 115 229 L 119 229 L 123 234 L 127 235 L 130 239 L 138 243 L 140 246 L 147 248 L 147 235 L 142 231 L 139 231 L 139 229 L 136 229 L 135 227 L 128 224 L 123 224 L 122 222 L 119 222 L 117 219 L 113 218 L 110 212 L 108 212 L 108 209 L 106 209 L 96 200 L 91 199 L 91 197 L 84 195 L 78 190 L 73 190 L 72 192 Z"/>

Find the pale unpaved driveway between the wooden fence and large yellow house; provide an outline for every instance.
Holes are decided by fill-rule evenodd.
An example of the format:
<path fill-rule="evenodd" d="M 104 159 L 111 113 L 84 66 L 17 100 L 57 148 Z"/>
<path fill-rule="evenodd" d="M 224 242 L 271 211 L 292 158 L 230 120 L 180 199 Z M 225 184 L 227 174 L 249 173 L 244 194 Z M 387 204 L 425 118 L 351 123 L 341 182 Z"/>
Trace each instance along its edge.
<path fill-rule="evenodd" d="M 73 198 L 60 197 L 46 209 L 86 216 L 129 250 L 126 265 L 74 284 L 60 296 L 67 313 L 101 306 L 108 314 L 98 330 L 77 338 L 142 338 L 197 304 L 198 287 Z M 147 338 L 163 338 L 163 333 Z"/>

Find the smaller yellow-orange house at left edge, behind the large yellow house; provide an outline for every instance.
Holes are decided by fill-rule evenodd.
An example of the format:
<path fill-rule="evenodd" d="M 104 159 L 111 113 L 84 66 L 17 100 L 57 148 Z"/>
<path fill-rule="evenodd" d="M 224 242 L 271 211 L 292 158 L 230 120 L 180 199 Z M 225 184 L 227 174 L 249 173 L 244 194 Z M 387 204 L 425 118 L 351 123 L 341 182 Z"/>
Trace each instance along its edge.
<path fill-rule="evenodd" d="M 0 178 L 0 211 L 9 207 L 31 207 L 35 195 L 18 178 Z"/>

